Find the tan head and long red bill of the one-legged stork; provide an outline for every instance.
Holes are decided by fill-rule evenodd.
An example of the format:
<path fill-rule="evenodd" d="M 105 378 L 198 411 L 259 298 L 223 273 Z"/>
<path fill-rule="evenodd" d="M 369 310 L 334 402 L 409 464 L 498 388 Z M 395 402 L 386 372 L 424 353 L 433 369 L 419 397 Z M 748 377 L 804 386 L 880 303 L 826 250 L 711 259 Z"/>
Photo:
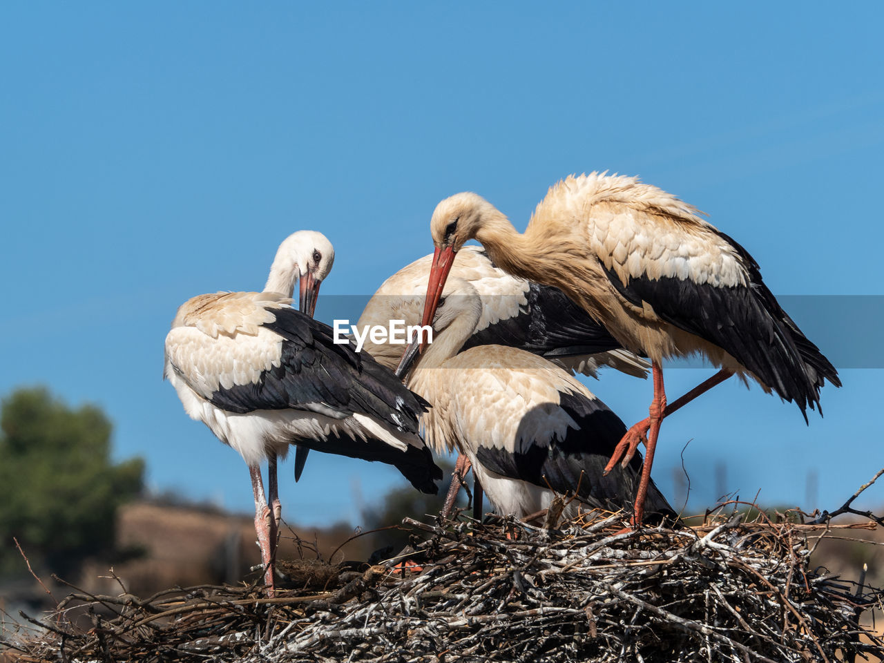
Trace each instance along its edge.
<path fill-rule="evenodd" d="M 430 220 L 430 232 L 436 251 L 427 284 L 427 299 L 421 324 L 430 324 L 436 311 L 454 256 L 464 242 L 480 237 L 487 221 L 500 212 L 481 195 L 464 192 L 439 202 Z"/>

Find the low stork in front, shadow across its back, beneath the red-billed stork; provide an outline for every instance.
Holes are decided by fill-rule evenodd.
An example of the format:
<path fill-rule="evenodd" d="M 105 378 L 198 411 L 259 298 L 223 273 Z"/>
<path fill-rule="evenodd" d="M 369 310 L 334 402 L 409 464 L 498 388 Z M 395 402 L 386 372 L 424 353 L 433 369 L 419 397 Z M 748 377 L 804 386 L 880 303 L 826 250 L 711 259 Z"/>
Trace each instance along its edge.
<path fill-rule="evenodd" d="M 640 455 L 604 473 L 626 426 L 568 372 L 536 354 L 497 345 L 461 351 L 482 316 L 476 289 L 451 279 L 438 301 L 433 342 L 408 377 L 408 387 L 432 406 L 422 416 L 427 444 L 438 453 L 456 447 L 465 454 L 499 514 L 536 513 L 557 493 L 576 494 L 568 516 L 579 507 L 632 508 Z M 398 372 L 408 371 L 418 346 L 415 339 Z M 655 514 L 674 516 L 652 482 L 647 503 Z"/>

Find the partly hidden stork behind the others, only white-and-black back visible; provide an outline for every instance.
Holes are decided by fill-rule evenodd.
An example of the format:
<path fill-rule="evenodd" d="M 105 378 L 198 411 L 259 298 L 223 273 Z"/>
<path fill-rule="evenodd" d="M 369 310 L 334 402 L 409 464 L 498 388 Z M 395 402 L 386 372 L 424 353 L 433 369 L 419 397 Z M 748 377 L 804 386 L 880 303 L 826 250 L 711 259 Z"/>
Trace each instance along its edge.
<path fill-rule="evenodd" d="M 387 278 L 362 311 L 357 328 L 386 326 L 390 320 L 419 324 L 431 263 L 432 255 L 426 255 Z M 593 377 L 603 366 L 647 377 L 650 364 L 621 349 L 602 325 L 560 290 L 507 274 L 483 248 L 464 247 L 450 276 L 469 281 L 482 298 L 482 314 L 464 348 L 519 347 Z M 364 347 L 391 369 L 402 356 L 402 347 L 388 339 L 374 342 L 367 336 Z"/>

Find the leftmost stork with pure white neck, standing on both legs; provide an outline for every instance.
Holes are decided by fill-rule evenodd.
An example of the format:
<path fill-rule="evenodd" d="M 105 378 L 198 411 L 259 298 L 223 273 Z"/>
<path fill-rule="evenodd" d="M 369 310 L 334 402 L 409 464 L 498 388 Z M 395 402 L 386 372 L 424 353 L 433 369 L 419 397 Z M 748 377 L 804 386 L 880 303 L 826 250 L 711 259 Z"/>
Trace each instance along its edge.
<path fill-rule="evenodd" d="M 291 308 L 286 292 L 292 292 L 293 278 L 308 271 L 291 262 L 279 253 L 274 260 L 268 288 L 275 292 L 203 294 L 186 301 L 165 339 L 164 377 L 187 415 L 209 426 L 248 465 L 271 595 L 281 513 L 276 466 L 289 445 L 388 463 L 423 492 L 437 492 L 434 480 L 442 477 L 418 435 L 425 401 L 369 354 L 335 344 L 331 327 Z M 302 307 L 311 301 L 309 286 L 304 290 Z M 266 497 L 260 469 L 265 458 Z"/>

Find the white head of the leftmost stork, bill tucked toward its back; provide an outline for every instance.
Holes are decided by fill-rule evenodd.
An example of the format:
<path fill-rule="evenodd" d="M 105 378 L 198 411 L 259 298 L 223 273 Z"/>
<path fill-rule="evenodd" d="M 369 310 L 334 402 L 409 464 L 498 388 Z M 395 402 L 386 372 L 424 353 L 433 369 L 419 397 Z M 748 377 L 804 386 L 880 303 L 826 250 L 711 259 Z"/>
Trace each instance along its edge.
<path fill-rule="evenodd" d="M 264 290 L 291 297 L 297 278 L 300 285 L 298 309 L 312 317 L 316 310 L 319 286 L 331 271 L 332 264 L 334 248 L 322 232 L 293 232 L 279 245 Z"/>

